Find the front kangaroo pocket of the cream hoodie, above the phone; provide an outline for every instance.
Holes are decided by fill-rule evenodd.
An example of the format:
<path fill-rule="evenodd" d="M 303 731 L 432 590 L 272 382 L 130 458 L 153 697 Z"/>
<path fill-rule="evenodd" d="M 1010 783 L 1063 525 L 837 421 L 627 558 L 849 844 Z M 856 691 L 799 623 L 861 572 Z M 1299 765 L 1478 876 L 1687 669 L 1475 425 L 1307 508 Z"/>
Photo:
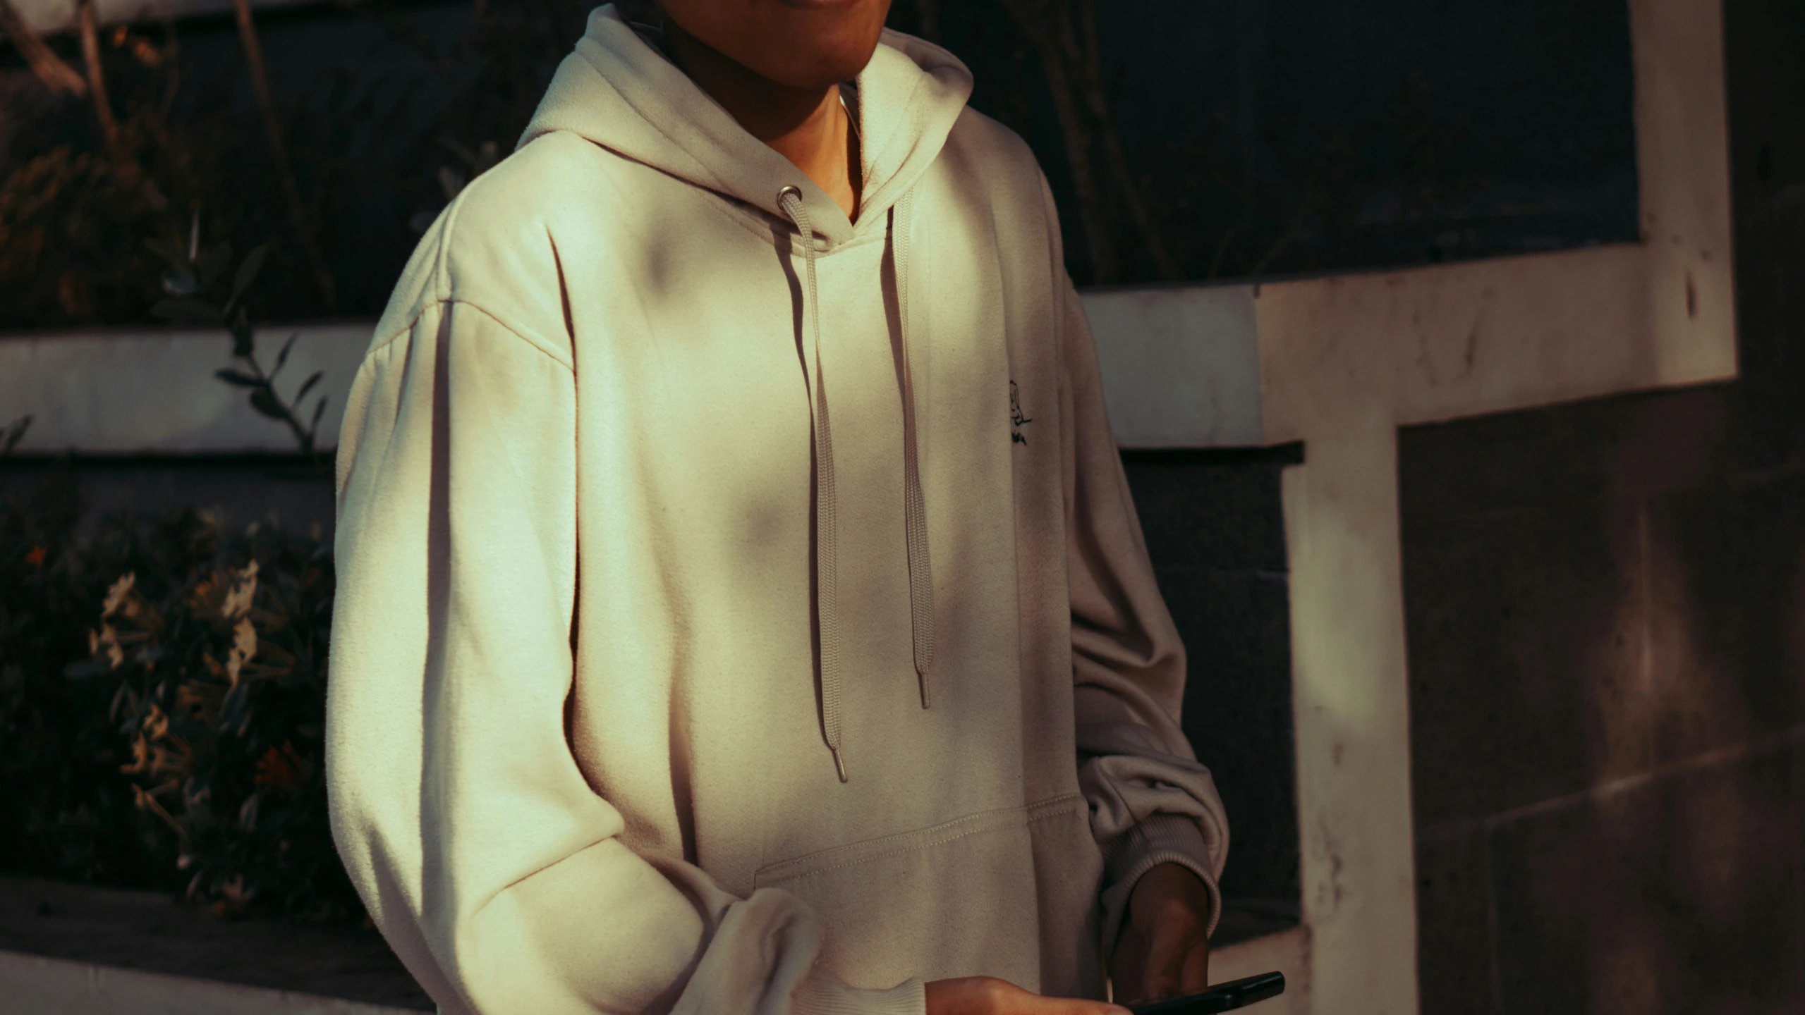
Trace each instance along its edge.
<path fill-rule="evenodd" d="M 1063 855 L 1052 871 L 1049 853 Z M 1043 914 L 1070 921 L 1065 896 L 1094 905 L 1099 874 L 1085 800 L 1069 795 L 783 860 L 754 885 L 814 909 L 821 961 L 852 986 L 986 974 L 1034 990 L 1043 937 L 1083 939 L 1088 923 L 1041 927 Z"/>

